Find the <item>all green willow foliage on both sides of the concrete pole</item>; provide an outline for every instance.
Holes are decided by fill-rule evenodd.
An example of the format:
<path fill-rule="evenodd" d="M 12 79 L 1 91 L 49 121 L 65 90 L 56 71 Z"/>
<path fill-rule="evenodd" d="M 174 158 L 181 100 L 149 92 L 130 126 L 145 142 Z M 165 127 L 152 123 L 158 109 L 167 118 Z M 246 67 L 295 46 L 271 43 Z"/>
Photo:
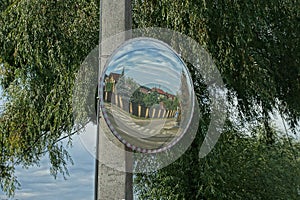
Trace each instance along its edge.
<path fill-rule="evenodd" d="M 228 122 L 203 159 L 209 124 L 201 75 L 189 66 L 202 118 L 196 140 L 175 163 L 137 177 L 141 199 L 297 199 L 299 143 L 270 123 L 278 110 L 297 133 L 300 116 L 297 0 L 132 0 L 135 27 L 159 26 L 199 42 L 213 57 L 239 120 Z M 98 43 L 99 1 L 0 1 L 0 186 L 12 195 L 16 165 L 67 172 L 60 143 L 74 133 L 75 74 Z M 229 110 L 231 110 L 229 108 Z M 239 122 L 239 123 L 237 123 Z M 246 123 L 244 123 L 246 122 Z M 245 124 L 258 124 L 246 133 Z M 252 127 L 252 126 L 250 126 Z M 252 134 L 250 136 L 250 134 Z M 298 191 L 297 191 L 298 190 Z"/>

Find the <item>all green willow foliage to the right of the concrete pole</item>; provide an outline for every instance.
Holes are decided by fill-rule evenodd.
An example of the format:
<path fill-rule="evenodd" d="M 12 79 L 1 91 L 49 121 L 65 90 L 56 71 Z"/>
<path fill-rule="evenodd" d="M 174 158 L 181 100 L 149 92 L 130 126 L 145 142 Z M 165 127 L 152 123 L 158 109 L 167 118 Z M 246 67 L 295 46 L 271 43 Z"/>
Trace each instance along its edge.
<path fill-rule="evenodd" d="M 208 96 L 201 75 L 189 66 L 203 114 L 197 137 L 170 166 L 138 176 L 138 195 L 142 199 L 299 198 L 299 141 L 280 133 L 271 123 L 272 113 L 278 111 L 289 123 L 287 131 L 297 133 L 299 2 L 133 2 L 135 27 L 174 29 L 192 37 L 211 54 L 230 102 L 227 130 L 215 149 L 199 159 L 199 145 L 210 119 L 209 102 L 203 101 Z M 235 107 L 239 117 L 232 120 L 229 111 Z M 249 127 L 252 130 L 244 131 Z"/>

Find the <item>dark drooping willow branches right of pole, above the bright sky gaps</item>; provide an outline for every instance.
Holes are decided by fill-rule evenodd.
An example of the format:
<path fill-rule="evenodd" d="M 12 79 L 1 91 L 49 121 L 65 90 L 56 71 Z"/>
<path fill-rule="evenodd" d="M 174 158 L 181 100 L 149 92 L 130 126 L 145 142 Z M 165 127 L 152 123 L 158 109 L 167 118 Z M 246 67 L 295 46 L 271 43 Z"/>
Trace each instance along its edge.
<path fill-rule="evenodd" d="M 184 33 L 213 57 L 239 111 L 251 120 L 278 109 L 295 127 L 299 99 L 299 3 L 134 0 L 135 27 Z M 193 69 L 190 69 L 193 73 Z M 193 75 L 193 74 L 192 74 Z M 197 81 L 197 80 L 195 80 Z M 260 110 L 261 109 L 261 110 Z"/>

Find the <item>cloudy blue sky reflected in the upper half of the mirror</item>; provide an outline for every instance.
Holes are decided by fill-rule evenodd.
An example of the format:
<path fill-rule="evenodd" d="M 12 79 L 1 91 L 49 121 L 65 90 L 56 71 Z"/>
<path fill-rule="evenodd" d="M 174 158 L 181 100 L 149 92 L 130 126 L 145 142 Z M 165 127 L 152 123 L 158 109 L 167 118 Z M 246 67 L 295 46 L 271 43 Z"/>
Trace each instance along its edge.
<path fill-rule="evenodd" d="M 156 40 L 135 39 L 118 48 L 105 73 L 121 73 L 143 86 L 156 86 L 176 95 L 180 89 L 182 70 L 187 68 L 181 58 L 170 48 Z M 191 84 L 191 82 L 189 82 Z"/>

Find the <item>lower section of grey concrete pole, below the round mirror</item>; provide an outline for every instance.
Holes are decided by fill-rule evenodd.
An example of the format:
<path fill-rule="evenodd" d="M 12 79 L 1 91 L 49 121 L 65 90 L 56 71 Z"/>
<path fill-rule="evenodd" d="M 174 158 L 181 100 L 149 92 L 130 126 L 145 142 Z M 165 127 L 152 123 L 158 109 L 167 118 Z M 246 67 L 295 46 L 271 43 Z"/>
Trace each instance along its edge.
<path fill-rule="evenodd" d="M 132 199 L 132 158 L 100 119 L 98 199 Z"/>

